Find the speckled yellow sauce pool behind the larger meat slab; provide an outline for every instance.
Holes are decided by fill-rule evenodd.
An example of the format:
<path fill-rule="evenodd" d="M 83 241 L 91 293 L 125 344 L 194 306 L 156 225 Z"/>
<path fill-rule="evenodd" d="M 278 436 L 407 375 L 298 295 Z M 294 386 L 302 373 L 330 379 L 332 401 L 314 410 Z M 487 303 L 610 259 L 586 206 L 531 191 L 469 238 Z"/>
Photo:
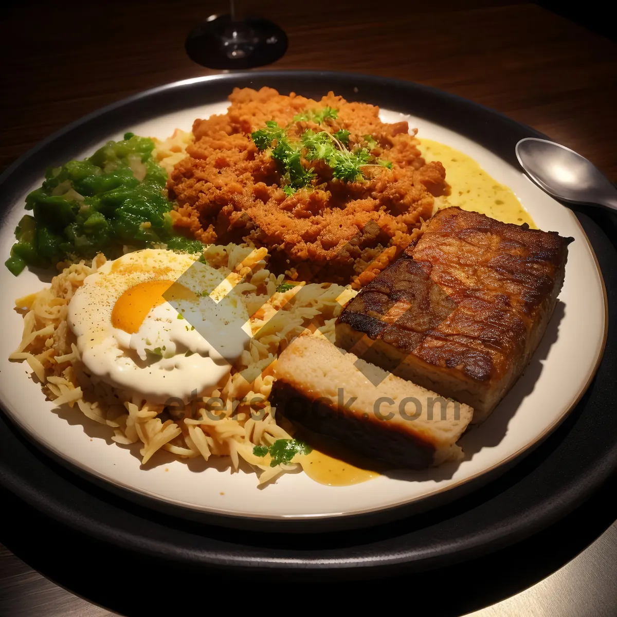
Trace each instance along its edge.
<path fill-rule="evenodd" d="M 504 223 L 527 223 L 536 229 L 512 190 L 491 178 L 471 157 L 431 139 L 420 139 L 420 151 L 426 162 L 441 161 L 445 180 L 452 188 L 450 195 L 435 198 L 436 210 L 455 205 Z"/>

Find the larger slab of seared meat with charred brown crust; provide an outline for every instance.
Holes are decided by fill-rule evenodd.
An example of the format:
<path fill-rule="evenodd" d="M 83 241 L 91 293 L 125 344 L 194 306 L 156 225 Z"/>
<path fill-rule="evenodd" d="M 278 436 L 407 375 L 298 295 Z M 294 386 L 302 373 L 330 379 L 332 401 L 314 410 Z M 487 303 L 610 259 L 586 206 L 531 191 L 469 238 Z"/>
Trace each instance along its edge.
<path fill-rule="evenodd" d="M 474 423 L 481 421 L 536 349 L 571 241 L 477 212 L 441 210 L 416 245 L 349 302 L 337 320 L 337 344 L 471 405 Z M 408 310 L 394 310 L 392 319 L 397 304 Z"/>

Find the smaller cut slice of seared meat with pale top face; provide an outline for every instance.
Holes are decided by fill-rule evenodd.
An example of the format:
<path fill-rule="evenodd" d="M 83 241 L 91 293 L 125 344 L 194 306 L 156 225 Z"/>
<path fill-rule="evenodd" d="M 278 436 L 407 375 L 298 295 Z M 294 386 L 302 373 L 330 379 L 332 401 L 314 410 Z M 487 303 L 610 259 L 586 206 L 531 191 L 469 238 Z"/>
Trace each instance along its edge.
<path fill-rule="evenodd" d="M 401 468 L 457 460 L 473 409 L 370 365 L 324 337 L 299 336 L 276 361 L 276 413 Z"/>

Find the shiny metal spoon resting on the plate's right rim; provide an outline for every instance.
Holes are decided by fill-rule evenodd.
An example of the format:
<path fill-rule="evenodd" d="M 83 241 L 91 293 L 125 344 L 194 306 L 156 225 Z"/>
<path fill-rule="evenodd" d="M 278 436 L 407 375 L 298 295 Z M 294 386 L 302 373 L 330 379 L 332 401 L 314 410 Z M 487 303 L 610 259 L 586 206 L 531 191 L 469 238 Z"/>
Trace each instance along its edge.
<path fill-rule="evenodd" d="M 617 210 L 617 188 L 573 150 L 547 139 L 526 137 L 516 144 L 516 158 L 531 180 L 553 197 Z"/>

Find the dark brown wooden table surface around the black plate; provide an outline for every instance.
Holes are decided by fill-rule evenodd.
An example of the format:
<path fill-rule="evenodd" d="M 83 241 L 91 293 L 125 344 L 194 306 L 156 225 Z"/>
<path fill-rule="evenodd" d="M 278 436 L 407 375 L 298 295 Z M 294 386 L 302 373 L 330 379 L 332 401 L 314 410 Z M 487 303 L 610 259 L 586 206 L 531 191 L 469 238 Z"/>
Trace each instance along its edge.
<path fill-rule="evenodd" d="M 9 4 L 0 37 L 0 170 L 49 133 L 101 106 L 213 73 L 188 59 L 184 38 L 199 21 L 226 9 L 225 2 L 197 0 Z M 276 20 L 289 36 L 286 56 L 268 69 L 344 70 L 435 86 L 533 126 L 617 180 L 617 45 L 548 10 L 516 0 L 244 4 L 246 12 Z M 614 520 L 603 519 L 587 544 Z M 602 558 L 617 563 L 616 530 L 613 526 L 581 555 L 582 569 L 600 561 L 593 552 L 598 542 Z M 33 553 L 22 550 L 7 526 L 0 540 L 30 560 Z M 0 615 L 108 614 L 41 578 L 6 549 L 0 552 L 0 571 Z M 553 587 L 544 581 L 544 587 L 539 583 L 516 595 L 518 603 L 495 605 L 482 615 L 617 613 L 617 599 L 588 612 L 593 602 L 577 603 L 584 592 L 563 582 L 564 573 L 563 568 L 555 573 Z M 567 576 L 573 580 L 572 573 Z M 530 604 L 524 594 L 534 589 Z M 598 588 L 590 597 L 600 595 Z"/>

